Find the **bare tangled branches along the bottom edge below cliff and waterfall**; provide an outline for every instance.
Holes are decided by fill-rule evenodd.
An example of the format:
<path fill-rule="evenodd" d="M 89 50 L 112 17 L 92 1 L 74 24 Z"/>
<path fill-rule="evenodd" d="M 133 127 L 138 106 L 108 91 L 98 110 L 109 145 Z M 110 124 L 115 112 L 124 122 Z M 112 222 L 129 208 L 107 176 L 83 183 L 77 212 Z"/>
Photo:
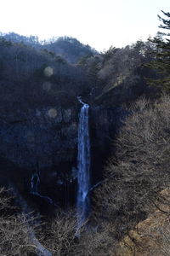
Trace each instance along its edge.
<path fill-rule="evenodd" d="M 53 256 L 113 255 L 115 241 L 110 236 L 109 224 L 99 229 L 82 226 L 77 232 L 74 211 L 58 211 L 53 218 L 42 223 L 34 212 L 20 213 L 14 207 L 8 191 L 0 189 L 0 254 L 7 256 L 39 256 L 40 245 Z M 39 253 L 38 253 L 39 252 Z"/>

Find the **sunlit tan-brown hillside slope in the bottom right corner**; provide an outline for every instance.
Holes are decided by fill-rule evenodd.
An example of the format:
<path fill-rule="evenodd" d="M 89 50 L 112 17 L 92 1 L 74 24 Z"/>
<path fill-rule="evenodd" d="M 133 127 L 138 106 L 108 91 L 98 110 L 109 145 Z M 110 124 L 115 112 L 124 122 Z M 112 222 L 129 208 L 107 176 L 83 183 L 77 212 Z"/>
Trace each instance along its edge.
<path fill-rule="evenodd" d="M 119 243 L 117 256 L 160 256 L 170 253 L 170 189 L 161 191 L 163 201 L 150 207 L 150 216 L 128 232 Z"/>

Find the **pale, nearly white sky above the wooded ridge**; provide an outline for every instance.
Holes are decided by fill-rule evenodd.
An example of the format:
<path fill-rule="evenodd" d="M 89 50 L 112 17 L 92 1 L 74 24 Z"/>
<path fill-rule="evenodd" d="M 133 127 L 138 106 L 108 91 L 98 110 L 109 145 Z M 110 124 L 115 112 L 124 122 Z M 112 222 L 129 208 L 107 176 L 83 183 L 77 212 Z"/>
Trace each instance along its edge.
<path fill-rule="evenodd" d="M 161 9 L 170 0 L 0 0 L 0 32 L 71 36 L 102 51 L 154 36 Z"/>

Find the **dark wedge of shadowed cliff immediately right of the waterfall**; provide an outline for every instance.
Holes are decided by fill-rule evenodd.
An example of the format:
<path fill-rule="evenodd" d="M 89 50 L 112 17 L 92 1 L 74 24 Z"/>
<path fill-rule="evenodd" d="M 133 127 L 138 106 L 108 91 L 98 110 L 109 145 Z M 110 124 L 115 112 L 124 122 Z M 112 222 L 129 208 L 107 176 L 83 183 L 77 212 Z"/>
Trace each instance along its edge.
<path fill-rule="evenodd" d="M 122 119 L 127 111 L 122 107 L 92 106 L 90 114 L 91 130 L 91 173 L 92 183 L 98 183 L 103 177 L 105 160 L 114 151 L 116 132 L 122 125 Z"/>

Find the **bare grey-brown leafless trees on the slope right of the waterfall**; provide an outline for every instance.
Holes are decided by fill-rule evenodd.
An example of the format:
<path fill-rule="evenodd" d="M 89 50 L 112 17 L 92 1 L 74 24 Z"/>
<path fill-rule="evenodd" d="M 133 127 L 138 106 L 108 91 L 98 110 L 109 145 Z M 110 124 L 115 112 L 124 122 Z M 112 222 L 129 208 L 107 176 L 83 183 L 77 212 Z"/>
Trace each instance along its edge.
<path fill-rule="evenodd" d="M 170 97 L 154 105 L 141 98 L 129 112 L 94 203 L 98 218 L 111 223 L 118 238 L 148 216 L 170 183 Z"/>

